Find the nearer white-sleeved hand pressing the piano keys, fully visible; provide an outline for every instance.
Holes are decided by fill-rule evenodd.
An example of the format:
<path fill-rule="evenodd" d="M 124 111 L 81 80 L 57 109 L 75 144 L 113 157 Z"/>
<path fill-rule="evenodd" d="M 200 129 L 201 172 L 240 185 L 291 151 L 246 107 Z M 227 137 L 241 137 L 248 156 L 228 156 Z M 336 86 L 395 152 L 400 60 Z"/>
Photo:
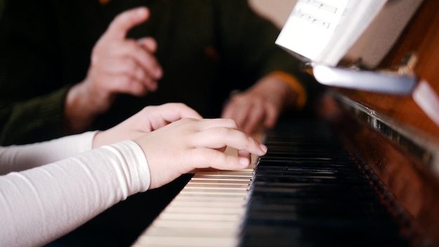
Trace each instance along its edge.
<path fill-rule="evenodd" d="M 135 141 L 147 157 L 149 189 L 166 185 L 196 168 L 247 168 L 250 154 L 266 153 L 264 145 L 240 131 L 231 119 L 181 119 Z M 237 149 L 238 155 L 224 153 L 226 147 Z"/>

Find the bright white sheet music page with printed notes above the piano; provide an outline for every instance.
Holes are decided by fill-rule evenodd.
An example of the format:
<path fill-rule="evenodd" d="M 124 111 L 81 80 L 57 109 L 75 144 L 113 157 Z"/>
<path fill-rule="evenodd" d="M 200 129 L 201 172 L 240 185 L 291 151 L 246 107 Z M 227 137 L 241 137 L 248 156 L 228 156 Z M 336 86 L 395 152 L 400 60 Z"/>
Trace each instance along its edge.
<path fill-rule="evenodd" d="M 299 0 L 276 40 L 308 60 L 335 66 L 386 0 Z"/>

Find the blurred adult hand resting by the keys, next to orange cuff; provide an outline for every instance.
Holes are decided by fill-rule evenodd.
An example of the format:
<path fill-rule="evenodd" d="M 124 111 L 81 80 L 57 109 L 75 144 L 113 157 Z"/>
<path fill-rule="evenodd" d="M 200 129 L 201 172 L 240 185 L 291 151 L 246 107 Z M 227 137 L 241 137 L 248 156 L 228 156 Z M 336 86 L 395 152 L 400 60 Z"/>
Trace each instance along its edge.
<path fill-rule="evenodd" d="M 245 133 L 251 134 L 273 127 L 283 109 L 292 107 L 296 99 L 297 93 L 288 83 L 266 76 L 247 91 L 231 95 L 221 117 L 234 119 Z"/>

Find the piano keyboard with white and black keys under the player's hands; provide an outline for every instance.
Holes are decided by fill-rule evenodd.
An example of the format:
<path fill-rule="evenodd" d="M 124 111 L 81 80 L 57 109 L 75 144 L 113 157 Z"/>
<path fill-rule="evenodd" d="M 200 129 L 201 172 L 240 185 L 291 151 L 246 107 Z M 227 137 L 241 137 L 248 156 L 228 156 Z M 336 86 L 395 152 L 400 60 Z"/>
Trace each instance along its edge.
<path fill-rule="evenodd" d="M 410 246 L 325 123 L 279 124 L 265 143 L 248 169 L 196 173 L 133 246 Z"/>

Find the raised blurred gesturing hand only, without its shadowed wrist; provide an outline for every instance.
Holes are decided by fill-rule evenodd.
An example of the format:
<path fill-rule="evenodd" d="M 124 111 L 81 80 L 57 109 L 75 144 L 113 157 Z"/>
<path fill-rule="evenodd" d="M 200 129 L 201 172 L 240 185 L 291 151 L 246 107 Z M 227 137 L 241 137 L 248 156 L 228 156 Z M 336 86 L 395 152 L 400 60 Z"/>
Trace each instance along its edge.
<path fill-rule="evenodd" d="M 149 17 L 147 8 L 136 8 L 118 15 L 97 41 L 91 56 L 86 83 L 93 95 L 112 98 L 116 93 L 144 95 L 155 91 L 161 67 L 152 38 L 126 39 L 127 32 Z"/>

